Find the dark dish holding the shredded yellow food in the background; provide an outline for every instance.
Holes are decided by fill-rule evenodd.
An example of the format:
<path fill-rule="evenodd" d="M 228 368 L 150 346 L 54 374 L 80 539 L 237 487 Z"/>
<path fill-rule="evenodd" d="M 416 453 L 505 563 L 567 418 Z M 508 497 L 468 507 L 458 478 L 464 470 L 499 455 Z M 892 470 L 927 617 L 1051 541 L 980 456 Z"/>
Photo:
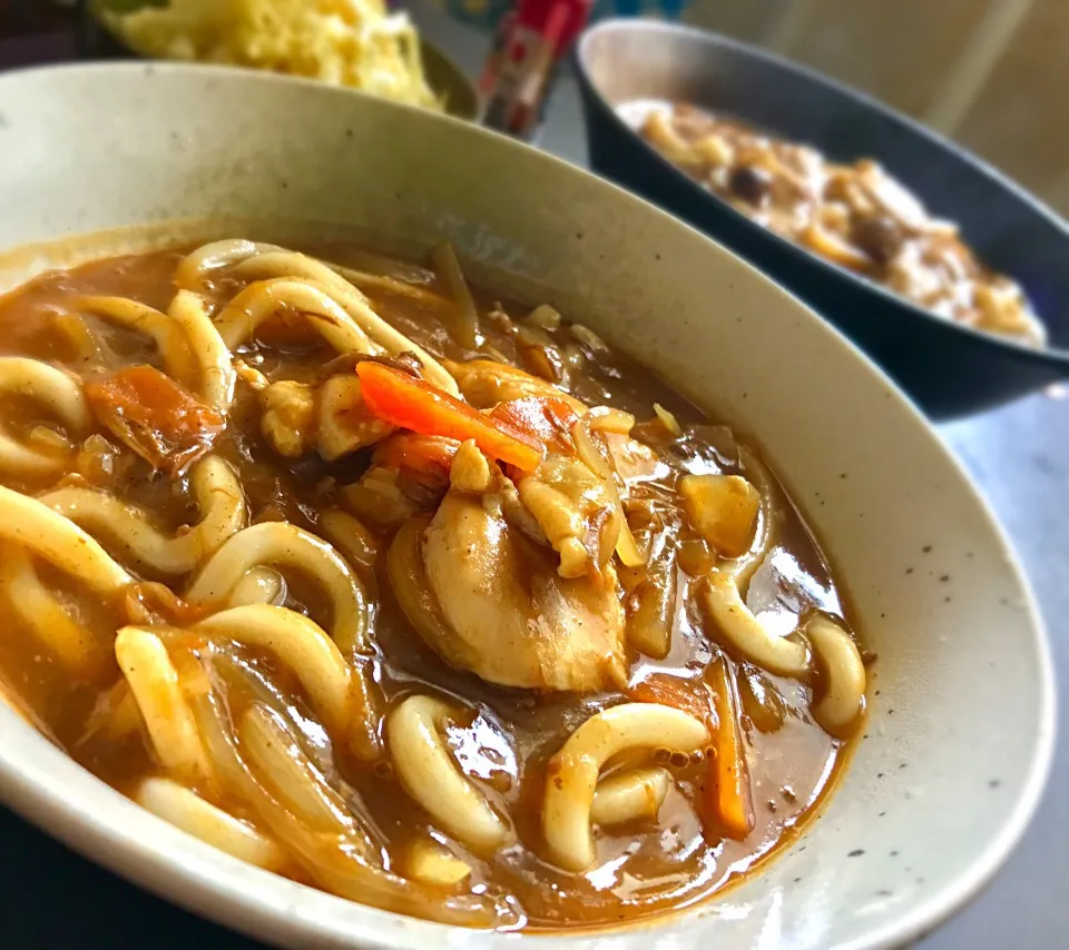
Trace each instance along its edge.
<path fill-rule="evenodd" d="M 127 13 L 141 7 L 160 6 L 159 0 L 79 0 L 78 51 L 86 59 L 125 59 L 137 57 L 108 26 L 108 12 Z M 475 85 L 455 62 L 437 46 L 420 37 L 423 75 L 426 85 L 451 116 L 474 121 L 479 117 L 479 93 Z"/>

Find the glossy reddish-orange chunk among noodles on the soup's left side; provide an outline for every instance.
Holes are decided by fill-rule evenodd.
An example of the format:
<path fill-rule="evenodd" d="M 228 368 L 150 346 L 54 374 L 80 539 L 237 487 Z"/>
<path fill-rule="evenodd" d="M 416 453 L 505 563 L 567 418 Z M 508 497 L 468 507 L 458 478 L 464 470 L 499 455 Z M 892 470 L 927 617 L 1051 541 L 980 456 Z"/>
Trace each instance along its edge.
<path fill-rule="evenodd" d="M 226 419 L 153 366 L 86 384 L 97 422 L 153 468 L 180 474 L 212 448 Z"/>

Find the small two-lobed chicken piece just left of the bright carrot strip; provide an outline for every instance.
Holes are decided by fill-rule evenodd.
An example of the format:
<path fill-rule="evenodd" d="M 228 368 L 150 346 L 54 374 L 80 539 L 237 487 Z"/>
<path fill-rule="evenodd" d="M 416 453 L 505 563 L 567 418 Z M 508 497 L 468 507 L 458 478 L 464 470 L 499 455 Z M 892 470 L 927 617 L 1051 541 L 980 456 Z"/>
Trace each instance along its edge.
<path fill-rule="evenodd" d="M 354 373 L 335 374 L 320 386 L 288 379 L 272 383 L 261 393 L 261 405 L 264 438 L 287 458 L 315 448 L 326 462 L 335 462 L 392 432 L 367 413 Z"/>

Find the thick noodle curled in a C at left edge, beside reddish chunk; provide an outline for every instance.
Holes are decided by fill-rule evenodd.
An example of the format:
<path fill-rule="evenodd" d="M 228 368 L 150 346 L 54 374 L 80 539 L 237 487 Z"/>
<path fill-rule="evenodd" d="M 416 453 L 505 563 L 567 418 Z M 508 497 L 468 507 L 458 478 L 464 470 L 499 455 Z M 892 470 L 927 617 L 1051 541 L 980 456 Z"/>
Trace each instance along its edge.
<path fill-rule="evenodd" d="M 0 396 L 23 396 L 38 403 L 67 429 L 68 442 L 84 436 L 91 422 L 81 383 L 61 369 L 23 356 L 0 357 Z M 0 472 L 45 476 L 63 471 L 67 453 L 35 448 L 16 439 L 0 423 Z"/>

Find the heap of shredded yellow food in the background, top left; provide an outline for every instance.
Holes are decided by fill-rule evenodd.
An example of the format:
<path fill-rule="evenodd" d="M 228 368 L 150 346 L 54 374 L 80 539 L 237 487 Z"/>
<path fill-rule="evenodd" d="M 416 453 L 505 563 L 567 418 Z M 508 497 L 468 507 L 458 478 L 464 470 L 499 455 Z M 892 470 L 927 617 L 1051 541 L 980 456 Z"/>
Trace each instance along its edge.
<path fill-rule="evenodd" d="M 268 69 L 441 108 L 415 27 L 385 0 L 170 0 L 112 22 L 141 55 Z"/>

